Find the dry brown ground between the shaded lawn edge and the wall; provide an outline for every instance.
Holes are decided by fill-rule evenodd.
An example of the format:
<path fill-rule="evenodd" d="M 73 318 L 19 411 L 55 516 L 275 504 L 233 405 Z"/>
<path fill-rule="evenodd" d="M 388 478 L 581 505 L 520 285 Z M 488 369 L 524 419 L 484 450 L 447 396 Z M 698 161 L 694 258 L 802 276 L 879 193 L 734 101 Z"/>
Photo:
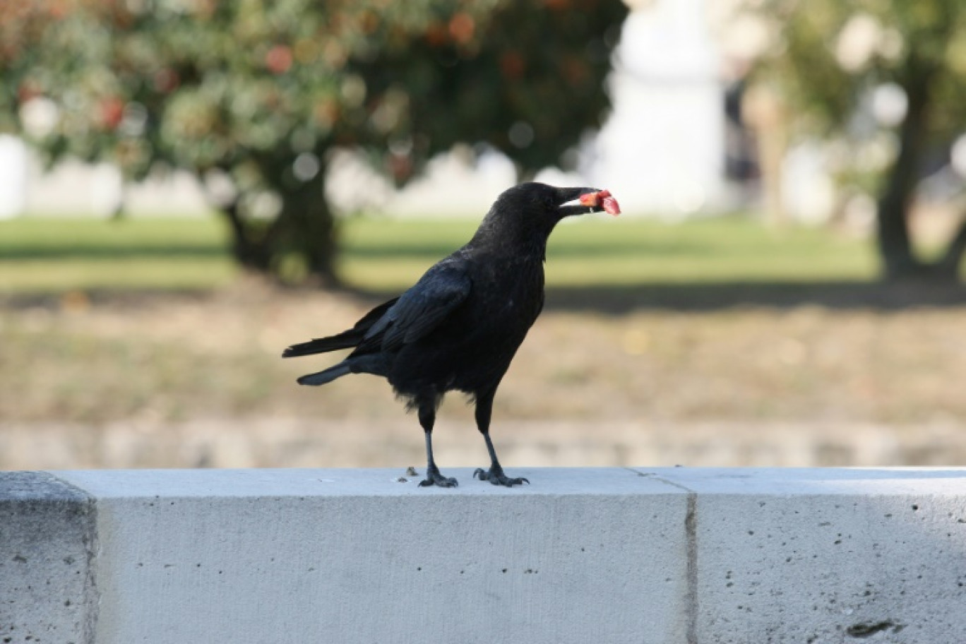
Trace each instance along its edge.
<path fill-rule="evenodd" d="M 0 468 L 419 465 L 379 378 L 280 351 L 373 302 L 257 283 L 0 308 Z M 497 395 L 505 464 L 966 464 L 966 307 L 548 311 Z M 484 464 L 451 396 L 443 465 Z"/>

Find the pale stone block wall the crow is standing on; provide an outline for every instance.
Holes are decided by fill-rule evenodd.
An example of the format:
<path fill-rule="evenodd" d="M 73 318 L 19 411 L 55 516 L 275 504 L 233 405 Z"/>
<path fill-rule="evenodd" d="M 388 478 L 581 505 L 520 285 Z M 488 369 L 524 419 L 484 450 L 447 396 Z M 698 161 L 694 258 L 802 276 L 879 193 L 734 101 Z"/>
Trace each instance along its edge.
<path fill-rule="evenodd" d="M 966 642 L 966 469 L 444 473 L 0 473 L 0 642 Z"/>

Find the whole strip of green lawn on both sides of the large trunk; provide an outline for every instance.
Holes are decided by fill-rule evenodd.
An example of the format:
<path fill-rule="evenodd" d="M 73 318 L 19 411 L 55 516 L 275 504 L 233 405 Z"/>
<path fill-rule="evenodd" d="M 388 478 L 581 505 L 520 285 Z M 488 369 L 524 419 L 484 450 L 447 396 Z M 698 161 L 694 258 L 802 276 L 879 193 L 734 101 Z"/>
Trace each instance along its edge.
<path fill-rule="evenodd" d="M 469 239 L 475 221 L 345 222 L 339 261 L 351 284 L 397 290 Z M 0 292 L 196 290 L 238 275 L 217 219 L 0 222 Z M 821 229 L 772 231 L 743 217 L 684 224 L 611 217 L 565 222 L 551 238 L 554 286 L 863 280 L 872 245 Z"/>

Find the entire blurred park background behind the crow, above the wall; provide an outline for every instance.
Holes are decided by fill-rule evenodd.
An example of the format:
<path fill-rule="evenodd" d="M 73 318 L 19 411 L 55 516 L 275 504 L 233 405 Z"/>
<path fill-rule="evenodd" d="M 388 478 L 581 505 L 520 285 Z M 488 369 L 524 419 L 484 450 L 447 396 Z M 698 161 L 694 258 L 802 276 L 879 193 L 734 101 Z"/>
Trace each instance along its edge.
<path fill-rule="evenodd" d="M 0 468 L 421 467 L 279 355 L 534 179 L 624 214 L 551 238 L 505 465 L 966 464 L 959 0 L 37 0 L 0 79 Z"/>

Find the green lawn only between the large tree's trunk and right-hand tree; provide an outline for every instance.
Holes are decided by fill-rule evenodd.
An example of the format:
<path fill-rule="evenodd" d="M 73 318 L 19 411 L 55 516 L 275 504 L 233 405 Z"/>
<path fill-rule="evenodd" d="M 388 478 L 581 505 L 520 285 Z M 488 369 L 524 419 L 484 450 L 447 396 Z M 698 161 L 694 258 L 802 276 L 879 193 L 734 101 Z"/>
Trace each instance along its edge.
<path fill-rule="evenodd" d="M 354 221 L 345 231 L 343 274 L 369 287 L 408 286 L 474 226 Z M 585 286 L 864 280 L 876 269 L 871 244 L 822 229 L 773 231 L 742 217 L 684 224 L 608 217 L 558 227 L 546 272 L 550 285 Z"/>

